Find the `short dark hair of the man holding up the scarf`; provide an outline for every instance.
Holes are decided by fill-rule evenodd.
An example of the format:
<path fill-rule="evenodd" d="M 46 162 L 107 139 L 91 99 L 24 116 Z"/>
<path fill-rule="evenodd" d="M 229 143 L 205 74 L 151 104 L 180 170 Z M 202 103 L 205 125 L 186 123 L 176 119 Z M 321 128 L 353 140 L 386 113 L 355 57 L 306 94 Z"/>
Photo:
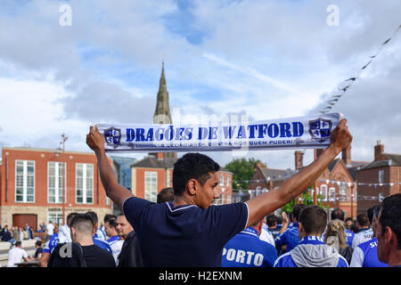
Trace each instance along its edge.
<path fill-rule="evenodd" d="M 220 169 L 217 162 L 201 153 L 186 153 L 174 164 L 173 188 L 174 194 L 180 196 L 185 191 L 186 183 L 196 179 L 204 185 L 210 178 L 209 172 L 215 173 Z"/>

